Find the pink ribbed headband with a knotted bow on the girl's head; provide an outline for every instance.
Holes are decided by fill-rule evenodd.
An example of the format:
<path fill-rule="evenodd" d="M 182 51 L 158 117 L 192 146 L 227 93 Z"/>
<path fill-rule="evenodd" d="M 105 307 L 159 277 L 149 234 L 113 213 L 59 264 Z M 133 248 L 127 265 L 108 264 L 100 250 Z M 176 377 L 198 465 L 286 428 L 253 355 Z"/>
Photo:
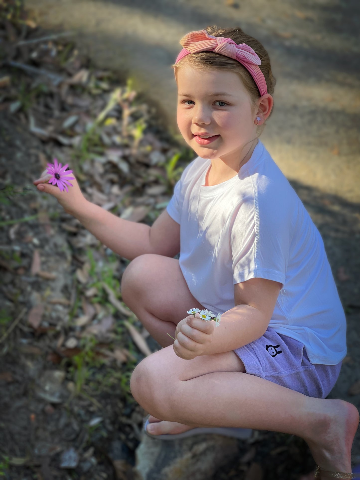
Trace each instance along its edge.
<path fill-rule="evenodd" d="M 189 53 L 203 51 L 221 53 L 221 55 L 238 60 L 250 72 L 259 89 L 260 96 L 267 94 L 265 77 L 258 67 L 258 65 L 261 65 L 261 60 L 246 43 L 238 45 L 234 40 L 226 36 L 213 36 L 209 35 L 206 30 L 195 30 L 184 35 L 180 40 L 180 45 L 183 48 L 175 63 L 178 63 Z"/>

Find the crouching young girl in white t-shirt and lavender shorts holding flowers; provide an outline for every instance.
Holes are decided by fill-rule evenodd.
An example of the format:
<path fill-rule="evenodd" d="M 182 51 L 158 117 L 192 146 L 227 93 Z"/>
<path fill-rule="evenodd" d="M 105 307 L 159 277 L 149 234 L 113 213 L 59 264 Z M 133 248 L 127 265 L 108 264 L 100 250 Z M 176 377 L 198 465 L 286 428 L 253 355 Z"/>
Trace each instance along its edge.
<path fill-rule="evenodd" d="M 341 472 L 351 472 L 359 412 L 325 399 L 346 356 L 344 311 L 323 240 L 259 140 L 274 105 L 269 56 L 240 28 L 207 27 L 180 44 L 177 121 L 198 156 L 151 228 L 87 202 L 76 180 L 69 192 L 45 176 L 34 183 L 132 260 L 122 299 L 164 347 L 131 378 L 148 433 L 294 434 L 317 477 L 354 478 Z M 189 309 L 222 313 L 219 328 Z"/>

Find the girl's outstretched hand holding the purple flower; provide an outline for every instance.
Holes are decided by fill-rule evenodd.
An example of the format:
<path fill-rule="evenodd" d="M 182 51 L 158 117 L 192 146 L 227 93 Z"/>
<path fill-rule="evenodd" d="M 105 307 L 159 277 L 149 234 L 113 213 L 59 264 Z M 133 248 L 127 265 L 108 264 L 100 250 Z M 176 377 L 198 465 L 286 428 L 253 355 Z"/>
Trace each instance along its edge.
<path fill-rule="evenodd" d="M 75 177 L 73 173 L 71 174 L 71 176 Z M 50 195 L 53 195 L 63 207 L 65 212 L 73 215 L 80 205 L 87 202 L 83 193 L 80 190 L 76 178 L 74 178 L 74 180 L 68 180 L 72 184 L 72 187 L 70 185 L 68 186 L 69 192 L 66 192 L 66 190 L 60 192 L 59 187 L 57 187 L 56 185 L 46 183 L 48 182 L 48 180 L 50 180 L 51 177 L 52 175 L 48 174 L 47 170 L 44 170 L 40 175 L 40 178 L 34 180 L 33 183 L 34 185 L 36 185 L 37 190 L 39 190 L 40 192 L 46 192 L 50 193 Z"/>

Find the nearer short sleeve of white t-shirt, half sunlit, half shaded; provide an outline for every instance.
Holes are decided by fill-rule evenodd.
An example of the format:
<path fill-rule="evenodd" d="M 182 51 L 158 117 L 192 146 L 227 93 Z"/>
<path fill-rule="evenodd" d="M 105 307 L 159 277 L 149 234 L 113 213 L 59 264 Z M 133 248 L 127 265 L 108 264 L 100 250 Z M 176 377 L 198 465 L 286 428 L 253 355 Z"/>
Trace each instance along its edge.
<path fill-rule="evenodd" d="M 233 283 L 267 278 L 285 284 L 289 257 L 289 207 L 256 194 L 243 199 L 230 231 Z"/>

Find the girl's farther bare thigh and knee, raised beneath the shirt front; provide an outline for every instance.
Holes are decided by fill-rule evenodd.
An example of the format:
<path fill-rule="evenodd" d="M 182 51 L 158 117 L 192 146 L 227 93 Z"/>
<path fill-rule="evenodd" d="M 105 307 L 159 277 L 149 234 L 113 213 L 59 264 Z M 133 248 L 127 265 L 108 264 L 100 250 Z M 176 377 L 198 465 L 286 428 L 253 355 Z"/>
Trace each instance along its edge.
<path fill-rule="evenodd" d="M 134 258 L 121 279 L 122 300 L 136 300 L 160 320 L 178 324 L 191 308 L 204 310 L 189 290 L 179 260 L 145 253 Z"/>

